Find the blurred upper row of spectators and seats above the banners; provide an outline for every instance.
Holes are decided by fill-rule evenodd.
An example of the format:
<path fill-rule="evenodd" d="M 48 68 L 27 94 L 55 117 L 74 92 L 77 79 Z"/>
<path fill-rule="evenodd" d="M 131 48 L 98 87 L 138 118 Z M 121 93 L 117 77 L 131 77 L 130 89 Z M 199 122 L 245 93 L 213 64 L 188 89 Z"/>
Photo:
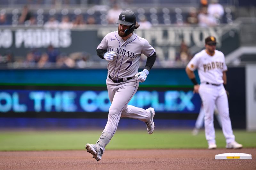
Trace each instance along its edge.
<path fill-rule="evenodd" d="M 63 1 L 63 3 L 65 2 Z M 5 9 L 0 8 L 0 25 L 45 26 L 46 28 L 61 29 L 94 24 L 108 25 L 115 24 L 119 14 L 125 10 L 114 0 L 107 8 L 101 9 L 101 7 L 98 7 L 99 13 L 96 13 L 95 9 L 96 7 L 82 11 L 76 8 L 72 12 L 64 8 L 57 12 L 54 8 L 49 11 L 44 11 L 40 8 L 32 10 L 29 5 L 24 5 L 20 11 L 19 9 L 14 9 L 10 14 L 10 12 L 7 13 Z M 162 10 L 151 8 L 149 11 L 144 8 L 138 8 L 134 12 L 143 28 L 150 28 L 159 24 L 215 26 L 232 22 L 232 15 L 224 17 L 225 12 L 230 14 L 231 10 L 227 8 L 225 11 L 218 0 L 209 0 L 209 2 L 208 0 L 200 0 L 200 4 L 196 7 L 191 7 L 189 11 L 182 11 L 177 7 L 174 11 L 168 8 L 162 8 Z"/>

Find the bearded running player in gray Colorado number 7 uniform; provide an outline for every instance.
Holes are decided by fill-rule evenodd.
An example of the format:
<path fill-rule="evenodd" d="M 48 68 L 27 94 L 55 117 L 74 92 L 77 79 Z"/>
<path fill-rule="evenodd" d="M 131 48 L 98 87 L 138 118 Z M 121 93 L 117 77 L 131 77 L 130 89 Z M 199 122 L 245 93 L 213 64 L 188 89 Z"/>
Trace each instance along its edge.
<path fill-rule="evenodd" d="M 139 119 L 146 123 L 148 134 L 155 128 L 153 117 L 155 111 L 127 105 L 136 93 L 139 82 L 144 82 L 156 61 L 155 49 L 144 38 L 133 33 L 140 25 L 136 22 L 134 12 L 121 12 L 118 20 L 118 31 L 108 33 L 99 46 L 97 55 L 108 61 L 107 88 L 111 106 L 108 122 L 96 144 L 86 144 L 87 152 L 92 158 L 101 160 L 105 147 L 116 132 L 120 117 Z M 140 55 L 146 55 L 145 69 L 138 73 Z"/>

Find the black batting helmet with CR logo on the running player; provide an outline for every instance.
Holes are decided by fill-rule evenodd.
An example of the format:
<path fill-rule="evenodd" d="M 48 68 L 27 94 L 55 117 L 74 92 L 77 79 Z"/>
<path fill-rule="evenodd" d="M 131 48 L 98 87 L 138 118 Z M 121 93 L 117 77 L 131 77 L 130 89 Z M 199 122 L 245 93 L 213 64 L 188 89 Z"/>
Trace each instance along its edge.
<path fill-rule="evenodd" d="M 129 29 L 125 30 L 125 34 L 130 34 L 134 31 L 135 24 L 136 24 L 136 16 L 134 12 L 130 10 L 125 10 L 120 13 L 118 20 L 116 21 L 117 24 L 122 24 L 125 26 L 130 26 Z"/>

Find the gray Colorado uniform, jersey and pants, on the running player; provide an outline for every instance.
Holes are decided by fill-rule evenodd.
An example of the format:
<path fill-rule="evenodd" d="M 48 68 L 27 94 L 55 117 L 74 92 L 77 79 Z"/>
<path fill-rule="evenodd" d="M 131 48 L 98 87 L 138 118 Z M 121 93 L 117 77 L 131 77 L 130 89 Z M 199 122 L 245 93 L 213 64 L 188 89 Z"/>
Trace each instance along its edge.
<path fill-rule="evenodd" d="M 108 122 L 103 133 L 108 135 L 110 140 L 116 132 L 120 117 L 129 117 L 147 122 L 150 119 L 150 111 L 139 107 L 127 105 L 137 92 L 139 82 L 134 78 L 138 73 L 141 54 L 151 56 L 155 49 L 144 38 L 133 33 L 124 41 L 118 32 L 108 33 L 97 49 L 114 51 L 116 56 L 113 61 L 108 62 L 108 76 L 113 78 L 132 78 L 124 82 L 116 83 L 107 77 L 106 83 L 108 96 L 111 102 L 108 113 Z M 104 145 L 103 143 L 99 144 Z"/>

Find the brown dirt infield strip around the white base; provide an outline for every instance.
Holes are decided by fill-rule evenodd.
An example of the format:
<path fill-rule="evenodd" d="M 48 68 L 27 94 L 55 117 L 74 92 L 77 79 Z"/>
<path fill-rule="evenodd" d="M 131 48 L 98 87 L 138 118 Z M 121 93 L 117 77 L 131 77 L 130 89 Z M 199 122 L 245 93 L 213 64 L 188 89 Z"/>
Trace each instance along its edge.
<path fill-rule="evenodd" d="M 248 153 L 252 159 L 215 160 L 216 154 Z M 0 169 L 256 169 L 256 148 L 106 150 L 102 160 L 86 151 L 0 152 Z"/>

